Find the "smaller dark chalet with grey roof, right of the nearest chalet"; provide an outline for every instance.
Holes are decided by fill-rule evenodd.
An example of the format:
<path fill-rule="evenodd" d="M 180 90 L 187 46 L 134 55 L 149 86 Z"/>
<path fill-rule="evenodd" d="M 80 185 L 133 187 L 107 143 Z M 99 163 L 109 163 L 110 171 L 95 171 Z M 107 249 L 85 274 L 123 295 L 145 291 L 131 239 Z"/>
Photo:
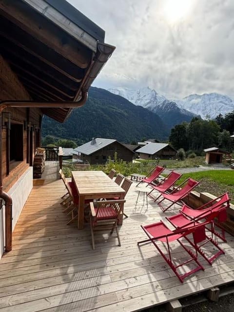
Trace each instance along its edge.
<path fill-rule="evenodd" d="M 176 150 L 167 143 L 148 143 L 136 151 L 142 159 L 168 159 L 176 156 Z"/>

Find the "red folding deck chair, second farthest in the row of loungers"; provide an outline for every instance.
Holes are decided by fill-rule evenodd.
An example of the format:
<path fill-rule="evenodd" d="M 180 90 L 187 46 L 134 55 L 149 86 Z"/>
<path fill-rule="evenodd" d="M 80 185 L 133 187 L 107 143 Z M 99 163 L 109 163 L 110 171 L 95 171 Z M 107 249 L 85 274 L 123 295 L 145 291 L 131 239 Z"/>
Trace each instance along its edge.
<path fill-rule="evenodd" d="M 169 193 L 168 191 L 170 190 L 170 188 L 172 186 L 174 186 L 174 184 L 176 183 L 176 181 L 181 177 L 182 175 L 172 171 L 168 176 L 166 176 L 163 180 L 161 180 L 159 182 L 159 184 L 157 185 L 151 185 L 152 186 L 152 191 L 150 191 L 150 193 L 148 193 L 148 196 L 151 197 L 152 199 L 154 199 L 154 201 L 156 201 L 161 195 L 162 193 Z M 157 196 L 156 198 L 151 194 L 154 190 L 160 192 L 160 195 Z"/>

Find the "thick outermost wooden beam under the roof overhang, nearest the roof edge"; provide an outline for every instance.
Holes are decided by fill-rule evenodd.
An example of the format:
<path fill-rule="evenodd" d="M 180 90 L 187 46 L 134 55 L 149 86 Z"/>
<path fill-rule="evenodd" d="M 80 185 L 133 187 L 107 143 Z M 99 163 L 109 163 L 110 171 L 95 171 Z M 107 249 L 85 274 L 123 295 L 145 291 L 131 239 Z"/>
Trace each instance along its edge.
<path fill-rule="evenodd" d="M 86 68 L 89 65 L 92 58 L 91 50 L 79 44 L 77 40 L 27 4 L 21 1 L 14 1 L 14 4 L 10 2 L 1 0 L 0 10 L 12 22 L 80 68 Z"/>

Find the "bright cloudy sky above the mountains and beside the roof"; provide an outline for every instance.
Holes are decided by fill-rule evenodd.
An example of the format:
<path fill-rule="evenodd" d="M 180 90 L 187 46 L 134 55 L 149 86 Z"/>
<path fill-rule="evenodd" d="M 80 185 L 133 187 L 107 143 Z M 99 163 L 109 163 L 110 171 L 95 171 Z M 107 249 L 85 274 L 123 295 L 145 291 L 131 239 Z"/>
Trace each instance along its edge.
<path fill-rule="evenodd" d="M 234 98 L 234 0 L 68 0 L 116 50 L 93 86 Z"/>

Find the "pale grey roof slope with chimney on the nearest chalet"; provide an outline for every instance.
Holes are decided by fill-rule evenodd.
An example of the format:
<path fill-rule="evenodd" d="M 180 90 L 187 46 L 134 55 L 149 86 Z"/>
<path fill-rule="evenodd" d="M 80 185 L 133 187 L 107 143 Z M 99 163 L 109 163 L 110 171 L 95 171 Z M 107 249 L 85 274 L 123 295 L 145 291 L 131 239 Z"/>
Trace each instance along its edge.
<path fill-rule="evenodd" d="M 93 138 L 91 141 L 81 146 L 78 146 L 77 148 L 74 149 L 74 151 L 82 153 L 84 155 L 91 155 L 97 152 L 98 150 L 102 149 L 103 147 L 110 145 L 111 143 L 114 142 L 116 142 L 116 140 L 114 139 L 96 137 Z"/>

